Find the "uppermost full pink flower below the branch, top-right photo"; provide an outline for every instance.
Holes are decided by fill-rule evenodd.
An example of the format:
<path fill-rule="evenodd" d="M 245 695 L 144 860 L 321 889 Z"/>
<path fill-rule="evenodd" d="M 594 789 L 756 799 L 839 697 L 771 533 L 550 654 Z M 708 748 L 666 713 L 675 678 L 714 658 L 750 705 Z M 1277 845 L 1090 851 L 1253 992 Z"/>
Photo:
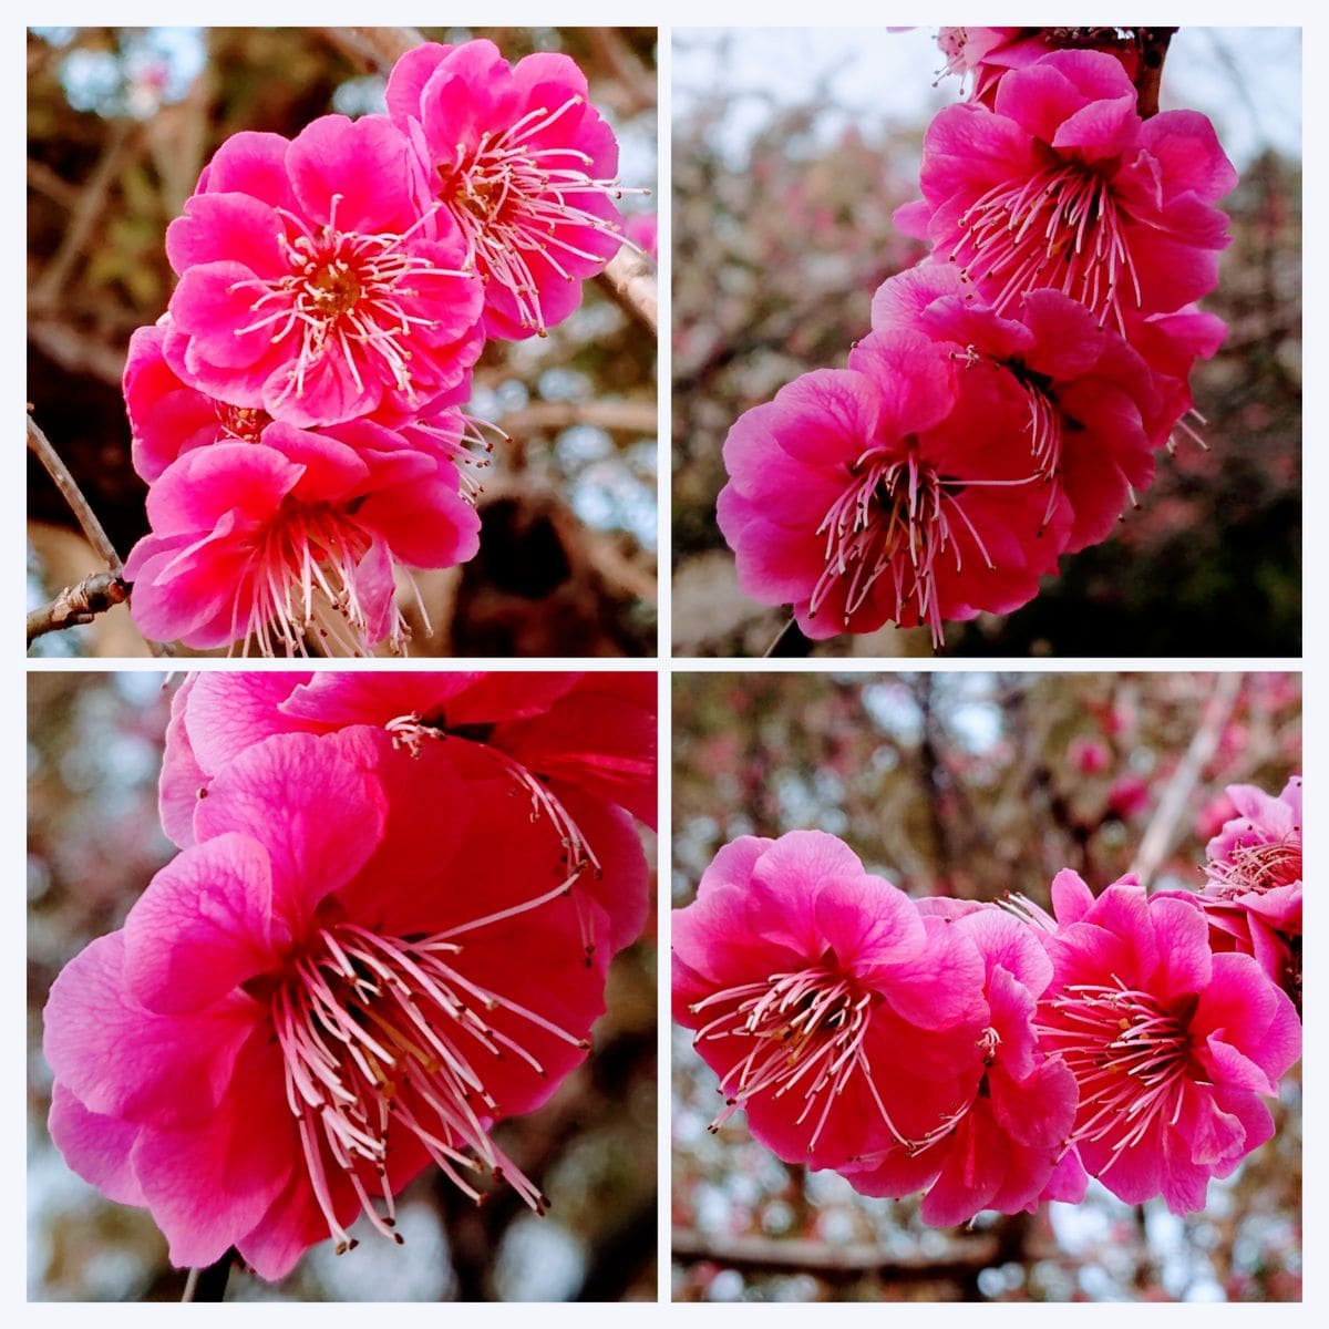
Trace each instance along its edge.
<path fill-rule="evenodd" d="M 999 82 L 993 108 L 948 106 L 928 128 L 922 201 L 900 227 L 956 262 L 1005 314 L 1053 287 L 1123 332 L 1132 314 L 1213 290 L 1236 183 L 1213 126 L 1191 110 L 1140 120 L 1120 62 L 1057 51 Z"/>

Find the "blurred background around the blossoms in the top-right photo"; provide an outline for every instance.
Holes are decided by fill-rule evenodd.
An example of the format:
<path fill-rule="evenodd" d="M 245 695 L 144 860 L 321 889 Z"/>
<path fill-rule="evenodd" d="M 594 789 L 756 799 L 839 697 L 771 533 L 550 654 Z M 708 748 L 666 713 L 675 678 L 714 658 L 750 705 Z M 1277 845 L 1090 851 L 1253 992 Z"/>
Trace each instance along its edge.
<path fill-rule="evenodd" d="M 734 420 L 813 368 L 843 368 L 872 292 L 924 246 L 928 122 L 960 97 L 936 29 L 672 33 L 674 646 L 759 655 L 789 619 L 738 589 L 715 524 Z M 1005 618 L 946 626 L 948 655 L 1301 654 L 1301 32 L 1183 28 L 1162 108 L 1204 112 L 1241 175 L 1217 291 L 1228 320 L 1193 379 L 1208 451 L 1184 443 L 1106 544 Z M 893 627 L 780 654 L 928 655 Z"/>

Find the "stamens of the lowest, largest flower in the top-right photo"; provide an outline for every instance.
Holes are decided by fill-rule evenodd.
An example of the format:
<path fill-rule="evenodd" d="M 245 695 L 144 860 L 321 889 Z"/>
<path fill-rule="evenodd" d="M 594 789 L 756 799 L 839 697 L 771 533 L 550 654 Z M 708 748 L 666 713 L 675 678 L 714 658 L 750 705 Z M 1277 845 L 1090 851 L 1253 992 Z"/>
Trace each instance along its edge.
<path fill-rule="evenodd" d="M 904 460 L 869 449 L 849 474 L 851 484 L 817 528 L 827 541 L 827 566 L 812 590 L 809 617 L 817 614 L 839 582 L 848 627 L 878 578 L 885 577 L 896 597 L 897 617 L 912 605 L 918 622 L 930 625 L 933 643 L 940 645 L 937 562 L 950 546 L 956 570 L 964 566 L 954 521 L 969 530 L 978 553 L 993 566 L 978 532 L 956 501 L 965 485 L 942 480 L 921 465 L 912 448 Z"/>

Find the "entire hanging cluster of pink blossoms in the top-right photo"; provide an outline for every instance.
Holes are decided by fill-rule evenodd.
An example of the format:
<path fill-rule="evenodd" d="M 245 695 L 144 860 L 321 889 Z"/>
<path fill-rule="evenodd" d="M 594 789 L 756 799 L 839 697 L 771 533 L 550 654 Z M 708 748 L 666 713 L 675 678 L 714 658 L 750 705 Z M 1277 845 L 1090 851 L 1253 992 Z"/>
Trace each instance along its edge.
<path fill-rule="evenodd" d="M 940 645 L 948 619 L 1019 607 L 1189 432 L 1236 174 L 1204 116 L 1140 116 L 1130 56 L 1051 32 L 942 29 L 973 92 L 896 214 L 929 256 L 876 292 L 847 369 L 726 440 L 739 583 L 808 637 L 925 623 Z"/>

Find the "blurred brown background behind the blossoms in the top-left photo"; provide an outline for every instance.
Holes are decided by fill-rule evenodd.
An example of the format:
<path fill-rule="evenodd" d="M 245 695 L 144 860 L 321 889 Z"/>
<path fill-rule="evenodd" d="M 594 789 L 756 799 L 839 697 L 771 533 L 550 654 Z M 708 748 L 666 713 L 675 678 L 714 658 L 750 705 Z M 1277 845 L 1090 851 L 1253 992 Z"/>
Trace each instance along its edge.
<path fill-rule="evenodd" d="M 359 29 L 363 31 L 363 29 Z M 136 327 L 166 308 L 167 223 L 218 145 L 383 110 L 372 54 L 331 28 L 28 31 L 28 400 L 124 558 L 148 530 L 120 395 Z M 509 60 L 562 51 L 618 134 L 633 234 L 653 247 L 654 28 L 425 28 Z M 645 231 L 639 233 L 639 227 Z M 420 655 L 654 655 L 655 339 L 598 282 L 548 338 L 490 343 L 470 412 L 512 435 L 482 473 L 480 553 L 417 575 Z M 29 456 L 29 609 L 101 567 Z M 408 617 L 413 609 L 403 602 Z M 35 654 L 145 655 L 118 607 Z"/>

